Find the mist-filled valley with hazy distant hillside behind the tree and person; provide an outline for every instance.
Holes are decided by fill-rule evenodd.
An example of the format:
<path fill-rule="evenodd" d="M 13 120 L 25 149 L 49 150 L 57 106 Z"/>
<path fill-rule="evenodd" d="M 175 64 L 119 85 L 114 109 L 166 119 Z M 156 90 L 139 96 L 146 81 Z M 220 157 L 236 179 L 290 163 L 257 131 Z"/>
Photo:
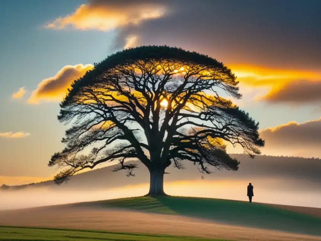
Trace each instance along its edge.
<path fill-rule="evenodd" d="M 239 170 L 213 170 L 202 174 L 191 162 L 185 170 L 170 166 L 164 175 L 164 191 L 192 196 L 248 201 L 247 185 L 254 186 L 254 202 L 321 208 L 321 160 L 299 157 L 231 155 Z M 57 186 L 53 181 L 0 189 L 0 210 L 59 205 L 84 201 L 143 196 L 149 190 L 148 169 L 139 164 L 134 177 L 112 172 L 115 166 L 73 176 Z M 204 177 L 202 179 L 201 177 Z"/>

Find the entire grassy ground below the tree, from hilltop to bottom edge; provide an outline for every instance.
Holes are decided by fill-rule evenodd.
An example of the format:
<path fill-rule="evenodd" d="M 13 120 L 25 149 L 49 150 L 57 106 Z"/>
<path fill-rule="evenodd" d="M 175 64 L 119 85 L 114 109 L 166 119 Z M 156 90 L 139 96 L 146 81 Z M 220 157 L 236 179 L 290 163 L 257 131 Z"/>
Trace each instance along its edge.
<path fill-rule="evenodd" d="M 136 210 L 140 211 L 140 213 L 122 210 Z M 170 216 L 153 215 L 151 213 L 180 216 L 172 216 L 171 219 Z M 206 219 L 210 222 L 199 222 L 199 220 L 195 219 L 188 219 L 189 221 L 183 220 L 186 218 L 182 216 Z M 8 223 L 9 219 L 11 220 L 10 223 Z M 1 220 L 1 225 L 52 227 L 22 228 L 0 226 L 0 240 L 6 241 L 215 240 L 208 239 L 210 237 L 232 240 L 247 240 L 247 238 L 257 237 L 257 240 L 265 241 L 321 240 L 321 218 L 261 203 L 208 198 L 135 197 L 82 202 L 44 208 L 5 211 L 2 213 Z M 217 222 L 223 222 L 228 225 L 220 225 Z M 60 225 L 57 226 L 57 224 Z M 126 227 L 121 228 L 124 226 Z M 251 228 L 243 228 L 241 226 Z M 73 229 L 118 230 L 118 232 Z M 273 232 L 271 229 L 287 233 Z M 193 237 L 168 236 L 166 234 Z M 319 237 L 300 236 L 299 234 Z M 289 239 L 289 236 L 293 237 L 293 239 Z"/>

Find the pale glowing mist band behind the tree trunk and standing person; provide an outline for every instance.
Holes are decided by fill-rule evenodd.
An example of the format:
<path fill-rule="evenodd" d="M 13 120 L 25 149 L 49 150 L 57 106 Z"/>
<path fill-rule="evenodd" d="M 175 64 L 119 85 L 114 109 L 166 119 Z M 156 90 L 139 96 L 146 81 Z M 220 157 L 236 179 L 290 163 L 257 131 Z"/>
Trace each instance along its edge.
<path fill-rule="evenodd" d="M 321 193 L 308 181 L 291 179 L 255 179 L 254 202 L 321 208 Z M 247 180 L 181 180 L 164 183 L 164 190 L 173 196 L 193 196 L 248 201 Z M 309 187 L 308 189 L 306 187 Z M 127 185 L 122 188 L 96 190 L 59 190 L 27 188 L 1 191 L 0 210 L 22 209 L 84 201 L 98 201 L 142 196 L 148 192 L 149 183 Z"/>

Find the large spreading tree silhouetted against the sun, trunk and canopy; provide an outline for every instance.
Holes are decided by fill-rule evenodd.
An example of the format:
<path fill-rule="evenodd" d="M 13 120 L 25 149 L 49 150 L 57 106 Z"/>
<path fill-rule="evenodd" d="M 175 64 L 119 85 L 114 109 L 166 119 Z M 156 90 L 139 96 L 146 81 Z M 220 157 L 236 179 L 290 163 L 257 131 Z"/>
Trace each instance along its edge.
<path fill-rule="evenodd" d="M 225 143 L 250 157 L 264 146 L 258 123 L 220 96 L 240 99 L 238 83 L 216 59 L 168 46 L 126 49 L 94 64 L 60 103 L 58 120 L 74 122 L 62 140 L 65 149 L 48 164 L 64 168 L 55 182 L 111 161 L 119 163 L 114 171 L 134 175 L 137 165 L 126 160 L 136 159 L 150 172 L 152 196 L 165 194 L 171 164 L 183 169 L 182 161 L 191 161 L 207 174 L 209 166 L 238 170 Z"/>

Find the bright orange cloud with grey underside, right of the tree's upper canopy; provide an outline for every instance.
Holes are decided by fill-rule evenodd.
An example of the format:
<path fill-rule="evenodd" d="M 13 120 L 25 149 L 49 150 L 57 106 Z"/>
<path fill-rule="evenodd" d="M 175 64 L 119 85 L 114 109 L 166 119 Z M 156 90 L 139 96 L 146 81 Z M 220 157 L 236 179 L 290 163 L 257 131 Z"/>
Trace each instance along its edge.
<path fill-rule="evenodd" d="M 251 65 L 228 65 L 240 82 L 241 93 L 256 92 L 257 101 L 312 103 L 321 100 L 321 72 L 273 69 Z M 301 79 L 301 80 L 298 80 Z M 303 79 L 303 80 L 302 80 Z"/>

